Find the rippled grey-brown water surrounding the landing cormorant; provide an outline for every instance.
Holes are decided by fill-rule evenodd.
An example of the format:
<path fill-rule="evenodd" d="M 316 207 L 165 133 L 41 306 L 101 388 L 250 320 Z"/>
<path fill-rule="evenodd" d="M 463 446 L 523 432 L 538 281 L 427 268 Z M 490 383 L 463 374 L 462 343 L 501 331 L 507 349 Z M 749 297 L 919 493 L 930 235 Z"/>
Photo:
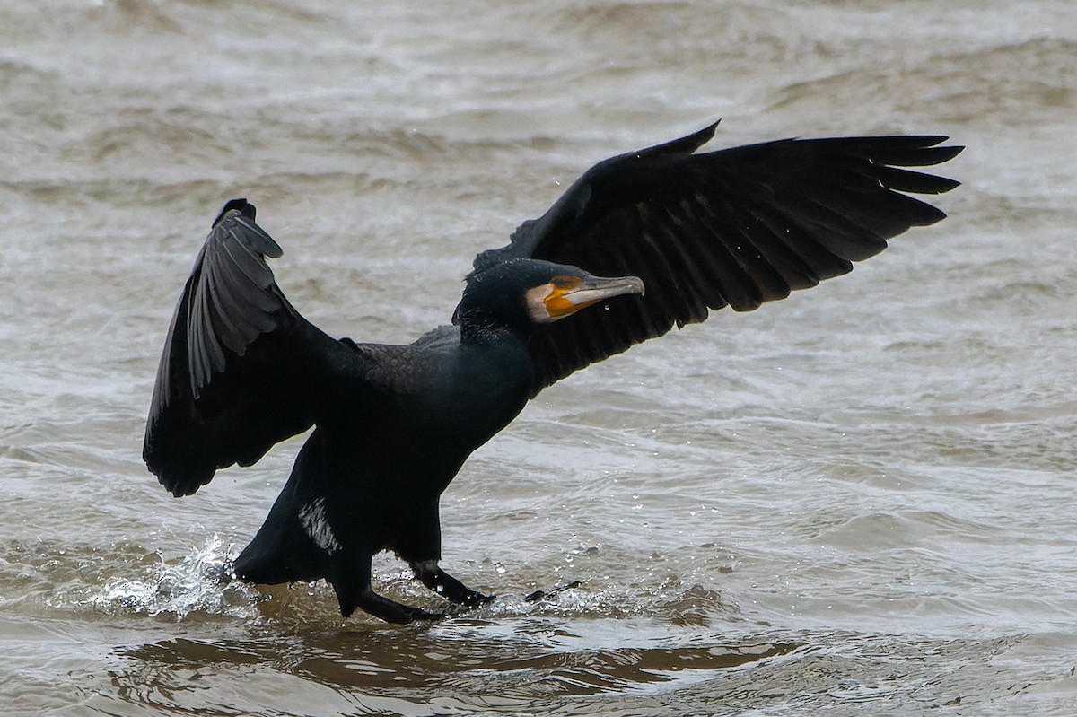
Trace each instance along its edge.
<path fill-rule="evenodd" d="M 295 4 L 0 9 L 4 714 L 1075 714 L 1068 0 Z M 950 135 L 964 185 L 476 453 L 444 565 L 493 604 L 401 628 L 211 579 L 300 445 L 184 500 L 140 461 L 224 200 L 257 205 L 308 318 L 406 341 L 591 163 L 718 116 L 715 146 Z"/>

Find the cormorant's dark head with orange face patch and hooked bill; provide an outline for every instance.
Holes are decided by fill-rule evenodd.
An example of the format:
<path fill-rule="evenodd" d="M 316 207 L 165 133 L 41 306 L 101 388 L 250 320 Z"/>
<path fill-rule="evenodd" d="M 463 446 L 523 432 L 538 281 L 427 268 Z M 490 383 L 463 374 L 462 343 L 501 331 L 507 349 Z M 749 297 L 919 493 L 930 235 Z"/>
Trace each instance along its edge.
<path fill-rule="evenodd" d="M 567 264 L 517 258 L 467 277 L 453 315 L 463 332 L 528 333 L 614 296 L 643 294 L 638 277 L 596 277 Z"/>

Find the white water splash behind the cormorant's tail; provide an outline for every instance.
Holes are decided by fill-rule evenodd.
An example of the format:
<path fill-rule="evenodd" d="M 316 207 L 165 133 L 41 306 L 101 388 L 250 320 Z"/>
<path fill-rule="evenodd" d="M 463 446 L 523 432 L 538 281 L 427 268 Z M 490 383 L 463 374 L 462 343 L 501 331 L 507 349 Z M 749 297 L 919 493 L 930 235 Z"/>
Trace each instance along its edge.
<path fill-rule="evenodd" d="M 256 617 L 258 593 L 234 577 L 227 548 L 213 535 L 179 563 L 151 566 L 142 579 L 110 578 L 87 602 L 110 614 L 174 615 L 177 621 L 192 613 Z"/>

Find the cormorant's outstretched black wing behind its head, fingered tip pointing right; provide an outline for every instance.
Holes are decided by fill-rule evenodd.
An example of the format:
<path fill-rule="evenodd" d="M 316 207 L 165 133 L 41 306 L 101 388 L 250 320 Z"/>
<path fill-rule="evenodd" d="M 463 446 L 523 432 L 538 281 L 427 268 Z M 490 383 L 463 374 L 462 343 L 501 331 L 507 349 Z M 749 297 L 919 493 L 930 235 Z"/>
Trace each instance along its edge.
<path fill-rule="evenodd" d="M 643 280 L 645 296 L 535 332 L 540 389 L 710 310 L 750 311 L 845 273 L 886 239 L 946 216 L 905 193 L 959 184 L 906 169 L 964 149 L 937 146 L 946 137 L 787 139 L 694 154 L 715 127 L 599 163 L 508 245 L 475 258 L 476 270 L 532 257 Z"/>

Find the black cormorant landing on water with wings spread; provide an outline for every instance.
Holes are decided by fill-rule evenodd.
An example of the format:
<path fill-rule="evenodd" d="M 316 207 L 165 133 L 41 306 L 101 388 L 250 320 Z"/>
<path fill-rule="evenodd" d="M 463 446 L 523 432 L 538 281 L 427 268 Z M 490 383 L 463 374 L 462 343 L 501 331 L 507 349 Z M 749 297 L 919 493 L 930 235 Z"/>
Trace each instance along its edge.
<path fill-rule="evenodd" d="M 938 146 L 946 137 L 696 154 L 715 126 L 592 167 L 506 247 L 480 253 L 452 325 L 410 345 L 334 339 L 309 323 L 274 281 L 265 259 L 281 249 L 254 207 L 229 201 L 168 329 L 142 453 L 150 470 L 190 495 L 313 425 L 235 562 L 239 578 L 325 578 L 345 617 L 356 607 L 390 622 L 439 617 L 370 589 L 370 559 L 392 550 L 443 598 L 491 600 L 438 567 L 438 500 L 529 399 L 711 310 L 749 311 L 850 271 L 886 239 L 945 216 L 903 193 L 959 184 L 905 169 L 954 157 L 963 147 Z"/>

